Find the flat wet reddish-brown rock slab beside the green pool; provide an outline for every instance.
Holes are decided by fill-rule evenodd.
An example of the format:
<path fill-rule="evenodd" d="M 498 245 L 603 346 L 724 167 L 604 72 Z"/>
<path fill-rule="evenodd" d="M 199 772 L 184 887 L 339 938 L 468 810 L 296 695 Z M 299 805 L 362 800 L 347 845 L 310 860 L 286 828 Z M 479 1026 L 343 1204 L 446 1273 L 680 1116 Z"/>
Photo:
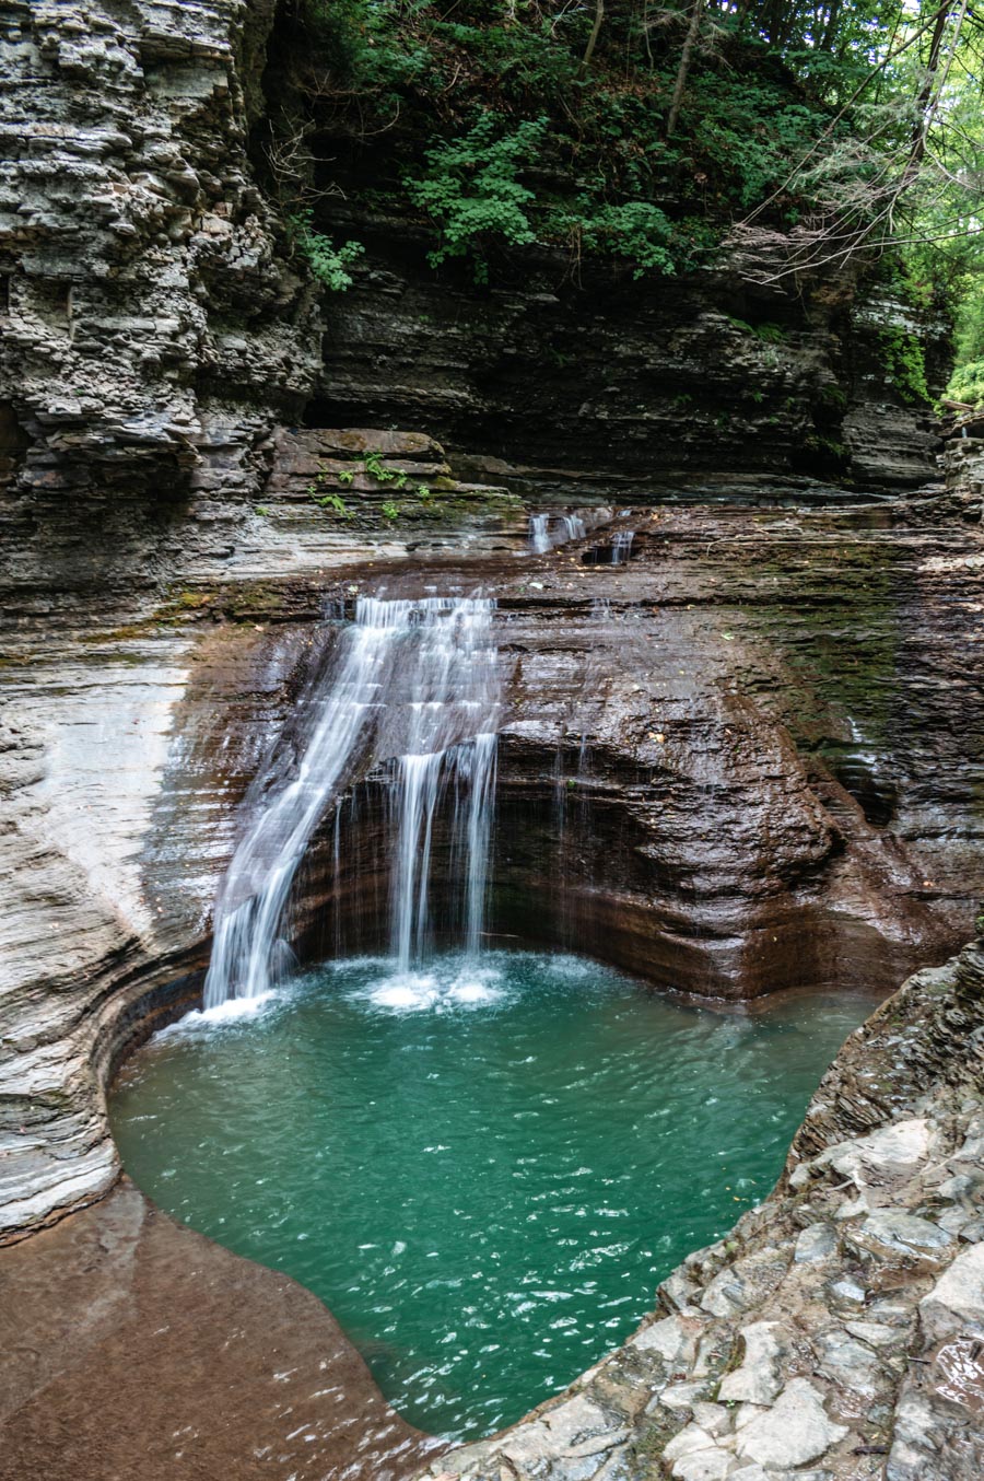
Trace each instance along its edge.
<path fill-rule="evenodd" d="M 1 1481 L 401 1481 L 439 1448 L 315 1296 L 126 1180 L 0 1251 Z"/>

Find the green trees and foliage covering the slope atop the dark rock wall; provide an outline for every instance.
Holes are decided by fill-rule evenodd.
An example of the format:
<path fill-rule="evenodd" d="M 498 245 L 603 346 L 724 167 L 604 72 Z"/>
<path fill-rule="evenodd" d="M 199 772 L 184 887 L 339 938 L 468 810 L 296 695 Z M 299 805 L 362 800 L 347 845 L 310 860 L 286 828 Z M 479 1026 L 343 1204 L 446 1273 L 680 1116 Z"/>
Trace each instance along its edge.
<path fill-rule="evenodd" d="M 354 154 L 371 139 L 374 163 L 388 151 L 389 167 L 371 172 L 385 188 L 363 194 L 388 206 L 408 197 L 432 224 L 435 267 L 463 259 L 488 281 L 503 249 L 515 259 L 540 243 L 567 246 L 573 271 L 596 256 L 629 264 L 636 277 L 670 274 L 707 264 L 732 221 L 753 210 L 772 228 L 880 221 L 889 224 L 882 234 L 909 240 L 911 286 L 937 308 L 962 305 L 959 360 L 968 363 L 984 355 L 984 247 L 968 246 L 981 238 L 968 185 L 984 163 L 984 47 L 968 13 L 962 49 L 937 74 L 946 71 L 946 98 L 926 185 L 909 190 L 929 30 L 910 43 L 932 21 L 928 6 L 704 7 L 672 138 L 688 0 L 607 6 L 589 67 L 590 3 L 293 0 L 305 55 L 292 81 L 299 114 L 309 108 L 328 136 L 349 141 Z M 885 206 L 895 181 L 911 206 Z M 309 215 L 294 222 L 321 280 L 348 287 L 358 244 L 336 246 Z M 894 241 L 888 256 L 898 258 Z M 886 354 L 904 394 L 920 400 L 907 348 Z"/>

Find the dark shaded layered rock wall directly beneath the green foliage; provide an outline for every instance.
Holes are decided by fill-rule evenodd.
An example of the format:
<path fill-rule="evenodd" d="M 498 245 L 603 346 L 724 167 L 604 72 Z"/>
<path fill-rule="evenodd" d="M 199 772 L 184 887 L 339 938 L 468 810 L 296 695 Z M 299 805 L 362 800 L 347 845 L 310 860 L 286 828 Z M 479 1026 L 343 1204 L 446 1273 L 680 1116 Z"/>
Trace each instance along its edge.
<path fill-rule="evenodd" d="M 929 409 L 906 401 L 885 347 L 911 333 L 934 345 L 946 326 L 855 271 L 790 277 L 795 240 L 778 233 L 681 278 L 590 262 L 573 274 L 531 252 L 478 289 L 462 268 L 434 273 L 417 221 L 320 210 L 367 256 L 331 304 L 311 425 L 423 425 L 459 453 L 540 481 L 580 472 L 602 493 L 722 469 L 864 487 L 935 477 Z"/>

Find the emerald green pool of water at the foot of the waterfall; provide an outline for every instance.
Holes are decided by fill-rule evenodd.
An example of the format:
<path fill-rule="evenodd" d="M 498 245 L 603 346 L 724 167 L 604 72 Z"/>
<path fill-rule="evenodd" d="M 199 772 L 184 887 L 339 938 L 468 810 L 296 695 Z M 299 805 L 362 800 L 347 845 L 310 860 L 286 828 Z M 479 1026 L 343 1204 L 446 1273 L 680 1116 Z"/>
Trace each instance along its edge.
<path fill-rule="evenodd" d="M 775 1180 L 860 998 L 715 1013 L 576 957 L 317 969 L 191 1014 L 112 1100 L 158 1204 L 317 1291 L 413 1423 L 476 1437 L 621 1342 Z"/>

